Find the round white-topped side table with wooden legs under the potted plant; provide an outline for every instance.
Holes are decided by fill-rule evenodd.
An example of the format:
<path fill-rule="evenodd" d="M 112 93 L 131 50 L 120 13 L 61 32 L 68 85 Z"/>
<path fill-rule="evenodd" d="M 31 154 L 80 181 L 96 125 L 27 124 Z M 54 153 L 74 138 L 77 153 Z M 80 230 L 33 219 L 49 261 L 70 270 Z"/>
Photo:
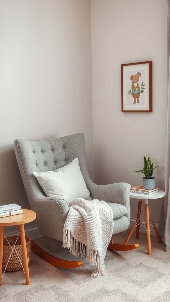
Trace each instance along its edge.
<path fill-rule="evenodd" d="M 140 218 L 141 218 L 141 207 L 142 207 L 142 200 L 145 200 L 145 217 L 146 217 L 146 234 L 147 234 L 147 242 L 148 242 L 148 255 L 151 255 L 151 236 L 150 236 L 150 221 L 149 221 L 149 217 L 151 218 L 151 222 L 152 225 L 154 227 L 155 230 L 155 234 L 159 240 L 159 243 L 162 243 L 162 240 L 159 236 L 158 233 L 158 229 L 155 226 L 155 223 L 149 213 L 149 199 L 158 199 L 158 198 L 162 198 L 165 196 L 165 192 L 160 190 L 159 192 L 156 193 L 152 193 L 149 195 L 146 194 L 138 194 L 138 193 L 132 193 L 130 192 L 130 197 L 131 198 L 135 198 L 138 199 L 138 213 L 137 213 L 137 218 L 136 218 L 136 222 L 133 224 L 132 229 L 129 232 L 129 235 L 126 238 L 125 244 L 128 243 L 130 237 L 132 236 L 132 233 L 136 227 L 136 239 L 139 238 L 139 227 L 140 227 Z"/>

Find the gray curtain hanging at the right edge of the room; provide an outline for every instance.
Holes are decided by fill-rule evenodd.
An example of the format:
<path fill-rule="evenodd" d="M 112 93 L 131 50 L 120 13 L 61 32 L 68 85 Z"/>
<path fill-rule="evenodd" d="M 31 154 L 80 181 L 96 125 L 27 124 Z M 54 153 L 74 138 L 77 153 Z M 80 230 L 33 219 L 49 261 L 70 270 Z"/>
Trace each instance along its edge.
<path fill-rule="evenodd" d="M 168 63 L 168 110 L 167 110 L 167 135 L 165 155 L 165 198 L 159 221 L 159 234 L 165 245 L 165 251 L 170 252 L 170 0 L 167 0 L 167 63 Z"/>

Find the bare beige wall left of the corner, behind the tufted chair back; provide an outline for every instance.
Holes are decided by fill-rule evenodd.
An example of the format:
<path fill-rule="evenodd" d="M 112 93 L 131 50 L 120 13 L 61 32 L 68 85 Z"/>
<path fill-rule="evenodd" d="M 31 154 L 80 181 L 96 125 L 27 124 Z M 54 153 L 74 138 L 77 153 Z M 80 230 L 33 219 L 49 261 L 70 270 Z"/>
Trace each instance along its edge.
<path fill-rule="evenodd" d="M 29 208 L 16 138 L 83 132 L 93 177 L 90 0 L 0 0 L 0 102 L 0 204 Z"/>

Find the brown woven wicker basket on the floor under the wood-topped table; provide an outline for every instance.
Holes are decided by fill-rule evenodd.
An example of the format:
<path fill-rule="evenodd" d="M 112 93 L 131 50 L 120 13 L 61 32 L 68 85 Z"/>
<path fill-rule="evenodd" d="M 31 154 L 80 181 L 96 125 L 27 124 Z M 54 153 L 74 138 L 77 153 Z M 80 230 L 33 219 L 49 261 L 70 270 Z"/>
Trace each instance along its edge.
<path fill-rule="evenodd" d="M 18 237 L 18 240 L 15 244 L 17 237 Z M 21 259 L 21 262 L 19 261 L 17 253 L 14 249 L 12 252 L 11 258 L 8 262 L 6 271 L 20 271 L 22 269 L 22 265 L 23 265 L 21 237 L 20 236 L 8 236 L 7 239 L 11 246 L 9 246 L 6 238 L 4 238 L 2 270 L 5 271 L 5 267 L 7 265 L 8 259 L 12 252 L 11 247 L 13 248 L 13 246 L 15 244 L 15 249 L 18 253 L 19 258 Z M 28 255 L 28 259 L 29 259 L 29 263 L 30 263 L 31 262 L 31 237 L 25 236 L 25 239 L 26 239 L 26 246 L 27 246 L 27 255 Z M 21 263 L 22 263 L 22 265 L 21 265 Z"/>

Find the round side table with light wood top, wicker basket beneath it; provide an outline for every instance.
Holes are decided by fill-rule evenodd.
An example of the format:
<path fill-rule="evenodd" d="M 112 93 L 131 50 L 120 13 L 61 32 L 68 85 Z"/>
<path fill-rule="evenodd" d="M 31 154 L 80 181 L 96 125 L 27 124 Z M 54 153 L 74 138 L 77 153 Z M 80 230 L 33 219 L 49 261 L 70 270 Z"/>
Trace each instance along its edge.
<path fill-rule="evenodd" d="M 23 256 L 23 264 L 25 270 L 25 280 L 26 280 L 26 284 L 30 285 L 30 275 L 29 275 L 29 268 L 28 268 L 24 224 L 35 220 L 35 218 L 36 218 L 36 213 L 34 211 L 26 210 L 26 209 L 23 209 L 23 214 L 0 218 L 0 285 L 2 282 L 4 226 L 16 226 L 16 225 L 19 225 L 19 229 L 20 229 L 22 256 Z"/>

